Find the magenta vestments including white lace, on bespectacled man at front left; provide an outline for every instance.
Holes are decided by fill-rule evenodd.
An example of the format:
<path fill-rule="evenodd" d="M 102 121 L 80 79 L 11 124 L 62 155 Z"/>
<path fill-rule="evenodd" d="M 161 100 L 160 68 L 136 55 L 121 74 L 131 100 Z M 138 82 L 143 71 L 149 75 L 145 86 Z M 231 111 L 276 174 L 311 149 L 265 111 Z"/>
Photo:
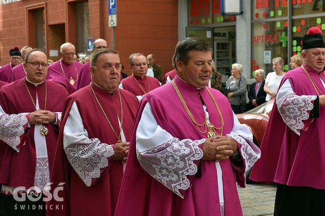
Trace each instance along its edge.
<path fill-rule="evenodd" d="M 48 129 L 46 136 L 40 135 L 42 124 L 29 125 L 30 113 L 35 111 L 35 107 L 25 83 L 36 107 L 44 110 L 46 104 L 46 110 L 56 115 L 56 125 L 44 124 Z M 55 82 L 43 81 L 35 87 L 24 78 L 4 85 L 0 89 L 0 95 L 2 108 L 0 113 L 4 115 L 1 121 L 4 125 L 8 125 L 8 127 L 1 126 L 0 139 L 5 143 L 0 164 L 1 193 L 12 195 L 16 187 L 25 188 L 25 192 L 30 189 L 34 189 L 37 193 L 43 192 L 43 189 L 46 189 L 44 186 L 49 184 L 49 173 L 52 170 L 59 135 L 58 127 L 61 123 L 61 111 L 68 93 Z M 5 117 L 6 114 L 9 116 Z M 47 154 L 43 154 L 43 157 L 37 155 L 37 149 L 44 148 L 40 145 L 45 145 Z"/>

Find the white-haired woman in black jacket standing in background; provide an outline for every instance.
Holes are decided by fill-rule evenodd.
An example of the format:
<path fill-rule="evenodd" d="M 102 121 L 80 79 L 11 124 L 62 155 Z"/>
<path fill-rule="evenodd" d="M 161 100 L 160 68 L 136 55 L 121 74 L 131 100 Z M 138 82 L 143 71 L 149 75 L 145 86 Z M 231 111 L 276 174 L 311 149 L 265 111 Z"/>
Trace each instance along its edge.
<path fill-rule="evenodd" d="M 249 99 L 249 108 L 255 108 L 265 103 L 266 92 L 264 92 L 265 84 L 265 71 L 263 69 L 258 69 L 255 71 L 256 82 L 254 82 L 249 89 L 248 99 Z"/>

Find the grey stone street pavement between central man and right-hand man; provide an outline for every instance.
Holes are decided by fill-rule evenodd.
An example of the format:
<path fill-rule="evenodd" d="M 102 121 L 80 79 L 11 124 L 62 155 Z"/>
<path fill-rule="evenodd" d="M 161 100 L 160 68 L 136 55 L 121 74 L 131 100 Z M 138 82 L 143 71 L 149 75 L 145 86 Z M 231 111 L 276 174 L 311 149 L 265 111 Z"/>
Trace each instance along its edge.
<path fill-rule="evenodd" d="M 238 194 L 244 216 L 273 216 L 276 185 L 247 183 Z"/>

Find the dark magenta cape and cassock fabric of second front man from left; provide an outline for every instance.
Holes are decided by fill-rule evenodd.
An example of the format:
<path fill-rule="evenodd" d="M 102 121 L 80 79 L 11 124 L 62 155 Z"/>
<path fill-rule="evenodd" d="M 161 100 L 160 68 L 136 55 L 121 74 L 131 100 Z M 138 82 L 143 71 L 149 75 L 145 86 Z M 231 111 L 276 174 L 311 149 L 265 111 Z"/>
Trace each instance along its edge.
<path fill-rule="evenodd" d="M 121 116 L 121 109 L 117 91 L 111 96 L 110 93 L 100 90 L 93 83 L 91 84 L 116 133 L 119 133 L 117 114 Z M 119 91 L 123 107 L 123 132 L 127 141 L 130 141 L 131 129 L 139 102 L 133 94 L 123 89 L 119 89 Z M 100 177 L 90 187 L 83 183 L 76 171 L 72 169 L 63 148 L 63 129 L 73 102 L 77 104 L 83 126 L 87 130 L 90 139 L 97 138 L 102 143 L 109 145 L 115 144 L 117 141 L 89 86 L 71 94 L 66 99 L 54 168 L 51 173 L 52 190 L 61 183 L 65 183 L 63 189 L 59 192 L 59 197 L 63 198 L 63 201 L 52 199 L 48 203 L 53 206 L 63 206 L 63 208 L 48 210 L 47 215 L 114 216 L 123 177 L 123 164 L 120 161 L 113 161 L 108 158 L 109 166 L 101 170 Z"/>

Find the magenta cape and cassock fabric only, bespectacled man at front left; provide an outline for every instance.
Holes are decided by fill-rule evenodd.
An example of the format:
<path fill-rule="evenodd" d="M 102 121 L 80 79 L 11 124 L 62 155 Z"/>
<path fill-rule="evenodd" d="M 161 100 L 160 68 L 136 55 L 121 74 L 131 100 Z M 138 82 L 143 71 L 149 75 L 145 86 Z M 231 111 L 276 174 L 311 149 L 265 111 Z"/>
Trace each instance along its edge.
<path fill-rule="evenodd" d="M 33 100 L 36 101 L 36 91 L 38 93 L 39 107 L 44 109 L 45 104 L 45 84 L 39 84 L 37 88 L 26 81 Z M 65 88 L 61 85 L 46 81 L 47 85 L 47 105 L 46 110 L 51 112 L 61 112 L 65 98 L 68 96 Z M 24 79 L 17 80 L 13 83 L 4 85 L 1 88 L 0 104 L 7 114 L 18 114 L 35 111 L 33 102 L 26 90 Z M 29 119 L 29 118 L 28 118 Z M 60 121 L 58 120 L 59 126 Z M 52 170 L 54 154 L 57 144 L 59 132 L 49 123 L 45 124 L 49 129 L 46 136 L 49 170 Z M 31 125 L 27 132 L 28 137 L 26 144 L 21 147 L 17 153 L 9 145 L 4 146 L 4 154 L 0 168 L 0 185 L 8 185 L 13 187 L 24 186 L 30 188 L 34 185 L 35 168 L 36 168 L 36 150 L 34 144 L 34 125 Z"/>

